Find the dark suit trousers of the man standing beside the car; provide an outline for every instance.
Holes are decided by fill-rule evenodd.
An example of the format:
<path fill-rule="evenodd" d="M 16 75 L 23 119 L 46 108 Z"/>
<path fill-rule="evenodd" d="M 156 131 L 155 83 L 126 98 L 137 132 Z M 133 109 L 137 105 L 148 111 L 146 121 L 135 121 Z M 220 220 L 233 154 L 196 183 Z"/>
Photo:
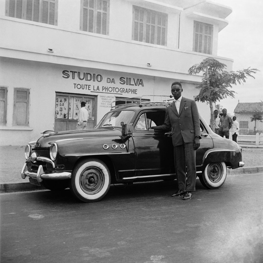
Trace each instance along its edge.
<path fill-rule="evenodd" d="M 196 166 L 193 143 L 185 143 L 174 147 L 174 165 L 177 174 L 178 188 L 186 191 L 195 191 Z M 186 168 L 187 166 L 187 178 Z"/>

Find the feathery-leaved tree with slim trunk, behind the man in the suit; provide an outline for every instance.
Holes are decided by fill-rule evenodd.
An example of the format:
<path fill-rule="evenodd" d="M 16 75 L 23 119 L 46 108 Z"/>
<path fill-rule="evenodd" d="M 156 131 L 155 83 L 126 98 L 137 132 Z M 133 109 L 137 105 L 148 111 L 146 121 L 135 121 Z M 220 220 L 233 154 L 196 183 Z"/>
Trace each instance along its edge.
<path fill-rule="evenodd" d="M 197 96 L 194 96 L 195 101 L 209 103 L 210 106 L 210 126 L 215 131 L 214 107 L 213 103 L 219 102 L 227 97 L 235 98 L 234 90 L 230 90 L 232 85 L 237 85 L 246 82 L 248 77 L 254 78 L 252 74 L 259 71 L 255 68 L 247 68 L 238 71 L 226 71 L 226 65 L 218 60 L 208 57 L 200 63 L 189 68 L 188 73 L 199 74 L 203 72 L 203 78 L 200 85 L 196 88 L 200 89 Z"/>

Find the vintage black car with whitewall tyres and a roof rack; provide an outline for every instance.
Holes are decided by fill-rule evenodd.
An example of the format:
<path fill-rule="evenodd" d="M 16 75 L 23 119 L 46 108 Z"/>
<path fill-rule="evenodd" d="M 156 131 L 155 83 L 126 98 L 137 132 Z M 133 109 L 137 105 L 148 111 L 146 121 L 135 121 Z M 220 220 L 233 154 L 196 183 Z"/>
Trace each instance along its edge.
<path fill-rule="evenodd" d="M 84 202 L 102 199 L 111 183 L 176 178 L 171 132 L 149 130 L 164 123 L 169 102 L 112 107 L 94 129 L 44 131 L 25 148 L 21 177 L 50 190 L 69 186 Z M 213 133 L 200 116 L 196 175 L 206 188 L 219 188 L 227 168 L 244 166 L 241 148 Z"/>

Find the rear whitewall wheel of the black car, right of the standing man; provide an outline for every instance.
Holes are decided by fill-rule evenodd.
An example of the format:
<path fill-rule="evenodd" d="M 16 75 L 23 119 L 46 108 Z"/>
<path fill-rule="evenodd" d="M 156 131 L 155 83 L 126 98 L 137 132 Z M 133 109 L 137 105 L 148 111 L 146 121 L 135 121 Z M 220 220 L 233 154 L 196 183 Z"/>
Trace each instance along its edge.
<path fill-rule="evenodd" d="M 226 180 L 226 164 L 224 162 L 209 163 L 199 180 L 206 188 L 219 188 Z"/>

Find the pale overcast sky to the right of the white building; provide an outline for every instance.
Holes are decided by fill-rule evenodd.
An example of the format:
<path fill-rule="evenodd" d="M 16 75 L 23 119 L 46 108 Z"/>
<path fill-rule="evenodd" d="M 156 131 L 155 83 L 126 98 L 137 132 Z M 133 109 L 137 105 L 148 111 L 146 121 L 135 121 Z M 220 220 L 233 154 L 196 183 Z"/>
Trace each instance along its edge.
<path fill-rule="evenodd" d="M 255 79 L 247 79 L 244 85 L 233 87 L 235 98 L 224 99 L 220 104 L 227 113 L 234 115 L 239 102 L 263 101 L 263 1 L 261 0 L 213 0 L 232 8 L 226 17 L 229 24 L 219 32 L 218 56 L 234 59 L 233 70 L 257 68 Z"/>

